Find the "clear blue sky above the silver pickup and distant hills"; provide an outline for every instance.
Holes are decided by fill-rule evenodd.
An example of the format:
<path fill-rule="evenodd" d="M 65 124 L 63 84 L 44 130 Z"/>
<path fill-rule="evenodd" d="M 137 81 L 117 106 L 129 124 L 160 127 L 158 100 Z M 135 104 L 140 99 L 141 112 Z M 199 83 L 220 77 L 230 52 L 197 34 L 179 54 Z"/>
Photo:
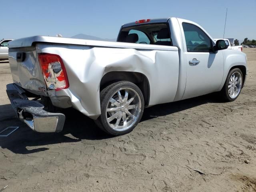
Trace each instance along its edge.
<path fill-rule="evenodd" d="M 256 39 L 256 0 L 1 0 L 0 39 L 79 33 L 116 38 L 122 24 L 179 17 L 197 22 L 213 38 Z"/>

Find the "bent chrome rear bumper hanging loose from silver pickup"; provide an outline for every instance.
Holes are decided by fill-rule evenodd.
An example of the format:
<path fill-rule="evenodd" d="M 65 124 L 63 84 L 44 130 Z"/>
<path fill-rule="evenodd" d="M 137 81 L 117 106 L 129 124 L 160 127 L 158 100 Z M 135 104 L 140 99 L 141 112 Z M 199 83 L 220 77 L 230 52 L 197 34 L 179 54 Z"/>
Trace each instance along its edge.
<path fill-rule="evenodd" d="M 6 85 L 6 92 L 17 118 L 36 132 L 60 132 L 64 126 L 65 115 L 43 110 L 44 105 L 28 100 L 25 91 L 16 84 Z"/>

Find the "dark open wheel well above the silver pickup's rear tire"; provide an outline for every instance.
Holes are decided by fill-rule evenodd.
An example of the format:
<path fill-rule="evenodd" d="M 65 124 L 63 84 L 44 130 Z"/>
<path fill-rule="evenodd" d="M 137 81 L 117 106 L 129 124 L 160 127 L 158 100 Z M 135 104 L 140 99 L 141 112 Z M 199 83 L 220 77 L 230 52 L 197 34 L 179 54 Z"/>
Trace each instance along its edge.
<path fill-rule="evenodd" d="M 150 100 L 150 85 L 148 78 L 140 72 L 112 71 L 104 74 L 100 81 L 100 91 L 108 85 L 118 81 L 130 81 L 136 84 L 144 96 L 145 107 Z"/>

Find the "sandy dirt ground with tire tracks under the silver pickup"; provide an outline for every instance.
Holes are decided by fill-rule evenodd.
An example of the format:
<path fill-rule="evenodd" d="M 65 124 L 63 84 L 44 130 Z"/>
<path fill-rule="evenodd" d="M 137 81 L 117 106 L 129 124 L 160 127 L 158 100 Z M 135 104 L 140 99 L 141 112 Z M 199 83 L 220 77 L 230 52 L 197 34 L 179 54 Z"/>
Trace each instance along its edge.
<path fill-rule="evenodd" d="M 148 108 L 129 134 L 110 137 L 75 110 L 63 132 L 42 134 L 15 118 L 0 63 L 0 190 L 4 192 L 256 191 L 256 49 L 234 102 L 218 94 Z M 249 163 L 245 163 L 249 160 Z"/>

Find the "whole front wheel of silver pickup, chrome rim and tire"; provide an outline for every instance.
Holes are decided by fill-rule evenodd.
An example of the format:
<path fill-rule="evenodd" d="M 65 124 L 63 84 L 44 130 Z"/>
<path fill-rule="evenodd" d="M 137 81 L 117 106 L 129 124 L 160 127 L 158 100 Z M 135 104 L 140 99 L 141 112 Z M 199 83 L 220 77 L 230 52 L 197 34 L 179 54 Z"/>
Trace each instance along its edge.
<path fill-rule="evenodd" d="M 228 73 L 226 82 L 221 90 L 222 97 L 226 101 L 234 101 L 238 98 L 243 85 L 243 74 L 239 68 L 234 68 Z"/>

